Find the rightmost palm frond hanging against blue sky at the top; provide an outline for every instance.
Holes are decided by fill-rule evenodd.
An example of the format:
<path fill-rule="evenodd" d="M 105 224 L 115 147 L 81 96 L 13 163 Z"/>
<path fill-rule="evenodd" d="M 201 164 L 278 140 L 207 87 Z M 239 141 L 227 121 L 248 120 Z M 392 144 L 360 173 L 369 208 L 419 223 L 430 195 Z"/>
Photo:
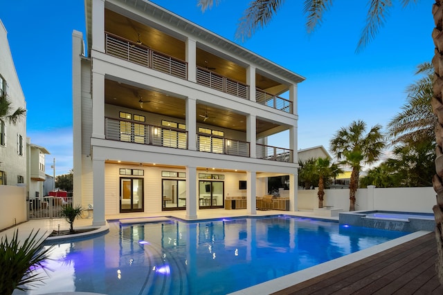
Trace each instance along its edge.
<path fill-rule="evenodd" d="M 361 32 L 361 38 L 356 48 L 357 53 L 363 50 L 363 48 L 374 39 L 375 35 L 377 35 L 379 28 L 385 23 L 390 7 L 392 7 L 391 0 L 370 1 L 370 8 L 366 16 L 366 26 Z"/>

